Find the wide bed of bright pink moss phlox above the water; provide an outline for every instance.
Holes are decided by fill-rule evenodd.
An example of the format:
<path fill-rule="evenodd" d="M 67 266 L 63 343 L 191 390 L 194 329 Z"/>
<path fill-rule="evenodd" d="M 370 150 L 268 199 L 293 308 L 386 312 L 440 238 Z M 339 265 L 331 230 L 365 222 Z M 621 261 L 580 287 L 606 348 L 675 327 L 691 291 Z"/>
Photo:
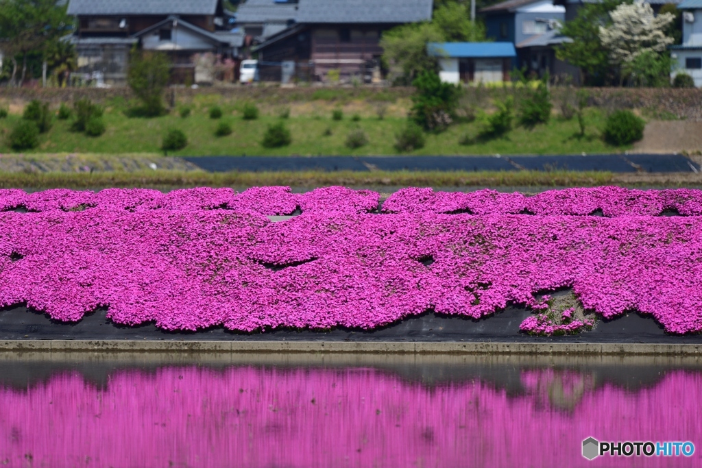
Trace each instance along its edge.
<path fill-rule="evenodd" d="M 573 288 L 585 309 L 607 318 L 638 310 L 670 333 L 702 330 L 702 218 L 564 215 L 574 209 L 559 203 L 590 195 L 546 193 L 555 214 L 499 213 L 496 200 L 512 206 L 510 195 L 482 191 L 476 196 L 494 207 L 485 215 L 378 215 L 368 213 L 378 194 L 341 187 L 7 190 L 6 209 L 37 213 L 0 213 L 0 305 L 26 302 L 60 321 L 108 307 L 117 323 L 166 330 L 370 329 L 427 309 L 473 319 L 512 303 L 538 310 L 538 293 Z M 691 213 L 698 192 L 676 193 L 626 200 L 668 199 L 655 201 L 663 208 L 677 200 L 673 208 Z M 527 208 L 545 210 L 546 198 Z M 286 222 L 265 216 L 298 207 L 302 215 Z M 435 262 L 425 266 L 428 258 Z"/>

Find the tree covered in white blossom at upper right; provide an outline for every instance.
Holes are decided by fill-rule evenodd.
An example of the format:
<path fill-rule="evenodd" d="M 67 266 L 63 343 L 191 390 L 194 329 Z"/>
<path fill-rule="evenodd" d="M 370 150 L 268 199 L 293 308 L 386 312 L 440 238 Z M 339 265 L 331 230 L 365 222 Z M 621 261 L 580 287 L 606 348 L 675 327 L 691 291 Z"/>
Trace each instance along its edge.
<path fill-rule="evenodd" d="M 655 16 L 649 4 L 636 1 L 618 6 L 609 16 L 611 25 L 600 26 L 600 41 L 610 62 L 623 70 L 639 55 L 663 53 L 673 44 L 673 38 L 665 35 L 665 29 L 675 18 L 671 13 Z"/>

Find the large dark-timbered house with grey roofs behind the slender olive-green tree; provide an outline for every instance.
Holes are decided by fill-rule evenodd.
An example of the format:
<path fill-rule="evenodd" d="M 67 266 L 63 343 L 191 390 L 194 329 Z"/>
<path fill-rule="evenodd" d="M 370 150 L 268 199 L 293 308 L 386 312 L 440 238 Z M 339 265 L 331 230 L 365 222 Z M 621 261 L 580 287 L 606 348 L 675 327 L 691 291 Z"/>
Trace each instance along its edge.
<path fill-rule="evenodd" d="M 197 55 L 238 58 L 243 34 L 231 32 L 221 0 L 69 0 L 77 30 L 78 74 L 105 85 L 126 83 L 133 46 L 171 56 L 172 80 L 197 81 Z"/>

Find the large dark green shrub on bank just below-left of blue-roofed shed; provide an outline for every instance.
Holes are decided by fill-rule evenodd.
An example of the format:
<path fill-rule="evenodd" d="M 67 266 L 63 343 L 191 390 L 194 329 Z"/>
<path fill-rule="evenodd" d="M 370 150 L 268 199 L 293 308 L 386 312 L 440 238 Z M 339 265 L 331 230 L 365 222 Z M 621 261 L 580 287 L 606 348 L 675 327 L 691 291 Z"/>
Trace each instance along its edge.
<path fill-rule="evenodd" d="M 430 71 L 422 72 L 412 84 L 417 88 L 412 96 L 413 121 L 427 130 L 444 130 L 453 121 L 461 87 L 443 83 L 436 72 Z"/>

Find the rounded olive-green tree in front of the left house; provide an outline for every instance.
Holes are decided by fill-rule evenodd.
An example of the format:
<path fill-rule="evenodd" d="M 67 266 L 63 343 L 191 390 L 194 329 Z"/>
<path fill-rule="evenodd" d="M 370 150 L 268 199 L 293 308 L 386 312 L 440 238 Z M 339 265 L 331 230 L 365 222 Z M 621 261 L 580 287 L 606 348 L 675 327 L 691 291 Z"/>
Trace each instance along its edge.
<path fill-rule="evenodd" d="M 138 114 L 147 117 L 164 114 L 164 91 L 170 78 L 171 63 L 166 54 L 132 49 L 127 83 L 143 104 Z"/>

